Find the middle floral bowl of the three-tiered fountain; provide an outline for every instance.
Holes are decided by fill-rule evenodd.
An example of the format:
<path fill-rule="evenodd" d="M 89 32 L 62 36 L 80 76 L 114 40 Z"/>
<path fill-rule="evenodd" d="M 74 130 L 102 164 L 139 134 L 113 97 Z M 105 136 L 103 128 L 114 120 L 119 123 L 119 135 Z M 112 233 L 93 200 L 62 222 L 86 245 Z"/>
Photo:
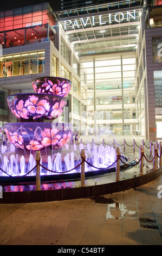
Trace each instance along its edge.
<path fill-rule="evenodd" d="M 8 96 L 8 106 L 17 118 L 48 120 L 60 117 L 67 99 L 46 94 L 15 94 Z"/>

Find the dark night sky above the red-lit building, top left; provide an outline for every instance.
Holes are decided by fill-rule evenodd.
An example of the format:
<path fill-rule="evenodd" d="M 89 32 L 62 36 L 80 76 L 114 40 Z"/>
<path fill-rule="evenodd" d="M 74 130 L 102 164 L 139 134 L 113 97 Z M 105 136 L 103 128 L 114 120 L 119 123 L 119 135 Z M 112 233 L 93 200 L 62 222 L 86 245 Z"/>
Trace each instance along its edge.
<path fill-rule="evenodd" d="M 0 3 L 0 11 L 4 10 L 11 10 L 11 9 L 16 9 L 16 8 L 21 8 L 21 7 L 26 7 L 30 5 L 35 5 L 35 4 L 41 4 L 41 3 L 49 3 L 51 5 L 51 8 L 53 10 L 61 10 L 61 1 L 60 0 L 3 0 Z"/>

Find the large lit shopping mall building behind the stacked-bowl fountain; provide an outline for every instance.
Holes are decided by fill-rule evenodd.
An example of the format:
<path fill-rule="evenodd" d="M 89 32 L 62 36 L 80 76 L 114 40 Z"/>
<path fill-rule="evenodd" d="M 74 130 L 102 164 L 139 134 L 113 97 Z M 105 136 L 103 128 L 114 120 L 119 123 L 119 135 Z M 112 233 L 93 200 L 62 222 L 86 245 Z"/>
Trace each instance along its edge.
<path fill-rule="evenodd" d="M 44 3 L 2 11 L 1 127 L 16 122 L 8 95 L 34 93 L 34 78 L 57 76 L 72 81 L 59 121 L 74 124 L 81 135 L 161 139 L 161 14 L 158 0 L 60 11 Z"/>

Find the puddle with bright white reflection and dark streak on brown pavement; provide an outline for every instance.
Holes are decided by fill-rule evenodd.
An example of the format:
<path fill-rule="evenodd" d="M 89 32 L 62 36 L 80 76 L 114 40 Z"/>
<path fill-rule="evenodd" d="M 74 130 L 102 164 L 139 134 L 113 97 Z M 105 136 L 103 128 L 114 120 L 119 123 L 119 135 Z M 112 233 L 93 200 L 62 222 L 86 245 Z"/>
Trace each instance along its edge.
<path fill-rule="evenodd" d="M 112 218 L 121 220 L 122 217 L 126 215 L 137 217 L 137 213 L 135 211 L 128 210 L 124 204 L 115 202 L 112 198 L 98 196 L 92 197 L 91 199 L 95 200 L 95 203 L 108 204 L 106 212 L 106 221 Z"/>

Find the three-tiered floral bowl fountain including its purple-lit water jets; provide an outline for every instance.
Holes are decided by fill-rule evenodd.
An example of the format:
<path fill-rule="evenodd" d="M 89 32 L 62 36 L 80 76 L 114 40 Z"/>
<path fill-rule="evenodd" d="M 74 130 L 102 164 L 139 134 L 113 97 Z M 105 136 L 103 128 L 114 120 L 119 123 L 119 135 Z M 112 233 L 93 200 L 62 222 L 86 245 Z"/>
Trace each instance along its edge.
<path fill-rule="evenodd" d="M 60 77 L 40 77 L 32 82 L 35 93 L 14 94 L 8 96 L 8 106 L 11 112 L 20 120 L 20 123 L 9 123 L 4 126 L 10 149 L 2 145 L 0 176 L 16 176 L 16 178 L 28 179 L 35 177 L 35 171 L 29 173 L 36 165 L 36 150 L 41 151 L 41 180 L 66 179 L 68 175 L 73 178 L 80 177 L 80 166 L 75 168 L 81 161 L 76 154 L 76 145 L 70 148 L 67 143 L 70 140 L 72 125 L 55 123 L 55 119 L 63 113 L 67 105 L 71 82 Z M 61 154 L 62 147 L 66 147 Z M 83 144 L 80 144 L 80 150 Z M 116 152 L 110 146 L 103 147 L 90 145 L 85 148 L 86 159 L 92 164 L 85 163 L 87 175 L 99 175 L 105 172 L 116 160 Z M 14 152 L 15 151 L 15 152 Z M 96 170 L 94 167 L 100 170 Z M 101 169 L 104 169 L 103 172 Z M 63 172 L 71 170 L 69 173 Z M 55 171 L 55 173 L 50 172 Z M 109 169 L 113 172 L 115 166 Z M 106 170 L 108 172 L 108 170 Z M 8 173 L 8 175 L 6 174 Z M 28 175 L 26 175 L 29 173 Z M 89 174 L 88 174 L 89 173 Z M 61 178 L 59 176 L 61 174 Z M 43 179 L 42 179 L 43 178 Z M 70 178 L 72 178 L 70 176 Z"/>

